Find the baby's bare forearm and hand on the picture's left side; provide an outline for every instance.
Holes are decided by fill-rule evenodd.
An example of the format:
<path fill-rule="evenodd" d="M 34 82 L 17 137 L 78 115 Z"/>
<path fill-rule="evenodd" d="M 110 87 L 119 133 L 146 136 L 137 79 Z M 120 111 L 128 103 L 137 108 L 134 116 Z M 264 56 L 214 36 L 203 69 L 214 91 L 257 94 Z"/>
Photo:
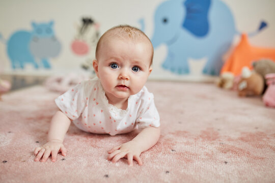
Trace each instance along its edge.
<path fill-rule="evenodd" d="M 51 161 L 55 162 L 59 152 L 61 152 L 63 156 L 66 156 L 67 150 L 63 145 L 63 140 L 70 123 L 71 120 L 63 112 L 58 111 L 54 114 L 50 122 L 48 142 L 42 147 L 36 147 L 34 150 L 36 156 L 35 161 L 41 159 L 41 162 L 45 162 L 51 155 Z"/>

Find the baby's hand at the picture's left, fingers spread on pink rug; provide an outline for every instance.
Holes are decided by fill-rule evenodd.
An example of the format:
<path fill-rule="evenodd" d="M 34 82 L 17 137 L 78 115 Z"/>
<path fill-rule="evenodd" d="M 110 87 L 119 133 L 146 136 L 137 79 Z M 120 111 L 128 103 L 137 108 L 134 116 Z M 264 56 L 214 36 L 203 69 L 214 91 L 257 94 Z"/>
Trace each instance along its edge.
<path fill-rule="evenodd" d="M 35 161 L 39 161 L 41 159 L 41 162 L 45 162 L 51 155 L 51 161 L 55 162 L 57 161 L 57 155 L 60 152 L 63 156 L 66 156 L 67 150 L 63 143 L 60 140 L 50 140 L 43 146 L 35 148 Z"/>

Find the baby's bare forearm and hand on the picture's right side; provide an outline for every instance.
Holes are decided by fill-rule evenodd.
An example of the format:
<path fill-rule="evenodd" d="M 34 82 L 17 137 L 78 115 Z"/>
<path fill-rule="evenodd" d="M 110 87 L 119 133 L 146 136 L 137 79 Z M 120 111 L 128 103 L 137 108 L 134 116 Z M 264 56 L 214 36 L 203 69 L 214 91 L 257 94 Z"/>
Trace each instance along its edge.
<path fill-rule="evenodd" d="M 142 165 L 140 155 L 142 152 L 148 150 L 154 146 L 160 136 L 160 127 L 148 127 L 143 129 L 135 138 L 122 145 L 116 146 L 109 150 L 108 160 L 112 160 L 113 163 L 117 162 L 121 158 L 127 158 L 128 164 L 133 165 L 133 159 Z"/>

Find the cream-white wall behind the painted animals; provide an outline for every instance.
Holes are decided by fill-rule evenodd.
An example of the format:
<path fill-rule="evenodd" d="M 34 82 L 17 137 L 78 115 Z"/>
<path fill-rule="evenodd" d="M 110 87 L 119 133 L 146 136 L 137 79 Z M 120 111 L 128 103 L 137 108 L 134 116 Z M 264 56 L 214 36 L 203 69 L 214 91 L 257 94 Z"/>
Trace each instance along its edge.
<path fill-rule="evenodd" d="M 275 1 L 273 0 L 223 0 L 231 9 L 237 30 L 239 32 L 253 32 L 261 20 L 268 22 L 268 27 L 261 33 L 251 38 L 251 44 L 275 48 Z M 163 0 L 78 0 L 78 1 L 41 1 L 41 0 L 4 0 L 0 2 L 0 33 L 8 39 L 12 33 L 19 29 L 31 30 L 31 22 L 54 21 L 56 36 L 62 43 L 62 52 L 57 58 L 50 59 L 52 69 L 34 70 L 32 66 L 24 71 L 13 71 L 10 67 L 6 45 L 0 42 L 0 72 L 25 73 L 25 74 L 55 74 L 81 72 L 79 64 L 89 56 L 77 56 L 72 53 L 70 45 L 76 34 L 75 23 L 80 23 L 83 16 L 91 16 L 100 23 L 100 34 L 108 28 L 118 24 L 130 24 L 140 27 L 139 19 L 145 19 L 145 33 L 149 38 L 153 34 L 153 15 L 156 7 Z M 235 37 L 235 43 L 239 36 Z M 166 46 L 155 50 L 153 72 L 151 79 L 174 80 L 208 80 L 201 74 L 206 59 L 190 59 L 191 75 L 176 75 L 161 68 L 161 63 L 166 56 Z"/>

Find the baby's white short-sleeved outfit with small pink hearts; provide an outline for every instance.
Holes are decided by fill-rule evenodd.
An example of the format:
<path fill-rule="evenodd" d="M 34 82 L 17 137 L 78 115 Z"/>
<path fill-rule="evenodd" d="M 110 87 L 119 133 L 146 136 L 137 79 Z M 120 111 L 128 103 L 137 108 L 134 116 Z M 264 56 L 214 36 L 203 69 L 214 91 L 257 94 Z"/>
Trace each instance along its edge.
<path fill-rule="evenodd" d="M 154 96 L 145 86 L 128 98 L 126 110 L 108 103 L 98 78 L 82 81 L 55 102 L 77 128 L 86 132 L 116 135 L 160 126 Z"/>

